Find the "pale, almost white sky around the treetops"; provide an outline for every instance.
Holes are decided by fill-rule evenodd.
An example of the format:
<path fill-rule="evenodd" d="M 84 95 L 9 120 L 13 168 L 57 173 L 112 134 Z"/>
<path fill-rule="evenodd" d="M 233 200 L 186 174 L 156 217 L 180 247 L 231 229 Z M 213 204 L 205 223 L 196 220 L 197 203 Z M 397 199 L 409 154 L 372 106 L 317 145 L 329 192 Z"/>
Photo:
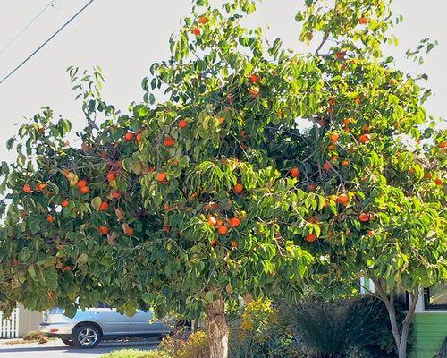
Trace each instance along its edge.
<path fill-rule="evenodd" d="M 0 0 L 0 52 L 50 0 Z M 251 15 L 252 26 L 269 26 L 269 38 L 283 38 L 287 47 L 297 48 L 299 26 L 294 14 L 304 0 L 264 0 Z M 0 78 L 30 55 L 63 22 L 88 0 L 56 0 L 29 30 L 0 53 Z M 396 13 L 404 22 L 395 29 L 400 46 L 389 53 L 400 58 L 401 70 L 425 72 L 435 97 L 427 105 L 430 114 L 447 118 L 447 12 L 446 0 L 395 0 Z M 95 0 L 63 32 L 27 64 L 0 85 L 0 160 L 13 153 L 5 142 L 40 107 L 49 105 L 56 114 L 72 120 L 74 128 L 84 126 L 80 102 L 74 101 L 65 69 L 69 65 L 91 68 L 100 64 L 105 74 L 104 98 L 126 110 L 131 101 L 140 101 L 141 79 L 153 62 L 169 55 L 168 38 L 179 21 L 190 12 L 189 0 Z M 419 66 L 405 59 L 405 51 L 422 38 L 439 41 Z M 301 48 L 302 45 L 299 45 Z"/>

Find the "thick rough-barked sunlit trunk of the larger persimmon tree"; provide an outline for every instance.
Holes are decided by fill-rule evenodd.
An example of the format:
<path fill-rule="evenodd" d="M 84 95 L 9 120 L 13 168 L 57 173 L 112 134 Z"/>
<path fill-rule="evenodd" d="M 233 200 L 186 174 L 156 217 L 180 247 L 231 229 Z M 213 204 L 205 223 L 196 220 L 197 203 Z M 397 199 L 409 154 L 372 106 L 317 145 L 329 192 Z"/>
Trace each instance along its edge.
<path fill-rule="evenodd" d="M 228 358 L 229 330 L 225 318 L 225 303 L 220 298 L 207 307 L 209 358 Z"/>

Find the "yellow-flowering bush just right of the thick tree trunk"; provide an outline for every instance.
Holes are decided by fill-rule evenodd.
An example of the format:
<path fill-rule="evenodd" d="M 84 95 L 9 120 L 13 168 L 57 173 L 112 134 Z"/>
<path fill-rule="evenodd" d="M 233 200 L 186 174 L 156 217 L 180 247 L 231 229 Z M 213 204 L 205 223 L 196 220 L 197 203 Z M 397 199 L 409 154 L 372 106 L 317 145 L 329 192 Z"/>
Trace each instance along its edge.
<path fill-rule="evenodd" d="M 249 303 L 231 332 L 232 358 L 298 357 L 293 336 L 270 301 Z"/>

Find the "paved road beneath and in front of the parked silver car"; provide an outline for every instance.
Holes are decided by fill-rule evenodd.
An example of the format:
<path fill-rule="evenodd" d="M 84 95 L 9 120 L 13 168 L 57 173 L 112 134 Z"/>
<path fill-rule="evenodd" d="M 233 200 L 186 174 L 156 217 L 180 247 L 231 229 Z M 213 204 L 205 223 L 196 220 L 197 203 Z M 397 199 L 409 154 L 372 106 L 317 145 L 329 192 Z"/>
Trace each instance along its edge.
<path fill-rule="evenodd" d="M 55 340 L 38 345 L 35 343 L 23 345 L 0 344 L 0 358 L 99 358 L 101 355 L 116 349 L 134 348 L 141 350 L 154 349 L 154 342 L 101 342 L 92 349 L 79 349 L 64 345 Z"/>

